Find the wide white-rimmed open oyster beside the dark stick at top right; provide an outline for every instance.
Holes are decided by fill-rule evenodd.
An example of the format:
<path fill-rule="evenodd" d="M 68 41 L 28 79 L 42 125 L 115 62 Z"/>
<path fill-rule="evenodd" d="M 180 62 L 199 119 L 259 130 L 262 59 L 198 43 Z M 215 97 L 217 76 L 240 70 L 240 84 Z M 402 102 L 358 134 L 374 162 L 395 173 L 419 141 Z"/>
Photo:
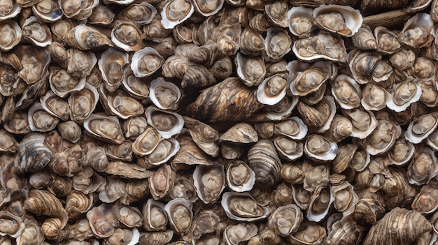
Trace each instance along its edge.
<path fill-rule="evenodd" d="M 350 6 L 323 5 L 313 10 L 316 24 L 341 36 L 353 36 L 362 27 L 362 15 Z"/>

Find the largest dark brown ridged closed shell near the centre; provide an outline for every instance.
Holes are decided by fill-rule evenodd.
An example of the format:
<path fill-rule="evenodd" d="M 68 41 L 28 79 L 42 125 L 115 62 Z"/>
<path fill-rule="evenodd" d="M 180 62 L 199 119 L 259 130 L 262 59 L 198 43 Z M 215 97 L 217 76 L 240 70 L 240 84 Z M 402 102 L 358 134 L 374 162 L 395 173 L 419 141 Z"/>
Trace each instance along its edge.
<path fill-rule="evenodd" d="M 183 114 L 209 122 L 246 119 L 262 107 L 255 89 L 246 87 L 237 77 L 229 77 L 202 91 Z"/>

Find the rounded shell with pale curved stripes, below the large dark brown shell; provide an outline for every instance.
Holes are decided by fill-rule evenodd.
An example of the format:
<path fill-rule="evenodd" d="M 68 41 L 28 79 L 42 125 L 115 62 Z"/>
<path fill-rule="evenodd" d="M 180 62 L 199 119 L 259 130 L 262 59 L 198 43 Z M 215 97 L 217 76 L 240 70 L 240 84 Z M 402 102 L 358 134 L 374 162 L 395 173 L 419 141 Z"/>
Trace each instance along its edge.
<path fill-rule="evenodd" d="M 259 140 L 248 150 L 248 165 L 262 186 L 274 186 L 281 178 L 281 161 L 270 140 Z"/>

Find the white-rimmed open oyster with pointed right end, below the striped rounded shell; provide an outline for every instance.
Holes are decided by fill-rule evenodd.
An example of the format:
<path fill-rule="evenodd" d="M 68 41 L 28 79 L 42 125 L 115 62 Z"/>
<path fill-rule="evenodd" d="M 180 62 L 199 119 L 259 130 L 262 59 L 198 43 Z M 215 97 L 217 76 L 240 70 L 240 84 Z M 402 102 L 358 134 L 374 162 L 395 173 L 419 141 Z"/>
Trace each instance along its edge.
<path fill-rule="evenodd" d="M 221 205 L 225 214 L 236 221 L 260 221 L 271 214 L 269 207 L 262 207 L 249 193 L 226 192 Z"/>

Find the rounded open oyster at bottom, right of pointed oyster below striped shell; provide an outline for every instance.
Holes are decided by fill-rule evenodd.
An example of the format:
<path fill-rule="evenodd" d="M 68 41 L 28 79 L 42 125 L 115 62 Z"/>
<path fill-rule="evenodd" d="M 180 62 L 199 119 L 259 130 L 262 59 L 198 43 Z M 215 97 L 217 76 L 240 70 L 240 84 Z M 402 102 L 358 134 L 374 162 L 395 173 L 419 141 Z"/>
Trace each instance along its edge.
<path fill-rule="evenodd" d="M 275 231 L 276 235 L 288 237 L 296 232 L 303 221 L 303 213 L 297 205 L 278 207 L 269 217 L 269 228 Z"/>

